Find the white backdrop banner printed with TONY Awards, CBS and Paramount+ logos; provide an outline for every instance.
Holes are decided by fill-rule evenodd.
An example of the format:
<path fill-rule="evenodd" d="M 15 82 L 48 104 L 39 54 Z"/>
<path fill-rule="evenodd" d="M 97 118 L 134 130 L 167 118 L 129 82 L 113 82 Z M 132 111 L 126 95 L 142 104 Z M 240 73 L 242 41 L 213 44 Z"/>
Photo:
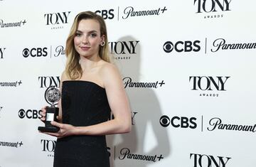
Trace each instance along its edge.
<path fill-rule="evenodd" d="M 255 167 L 255 6 L 1 0 L 0 166 L 52 166 L 44 93 L 60 85 L 73 19 L 95 11 L 132 107 L 131 133 L 107 136 L 112 167 Z"/>

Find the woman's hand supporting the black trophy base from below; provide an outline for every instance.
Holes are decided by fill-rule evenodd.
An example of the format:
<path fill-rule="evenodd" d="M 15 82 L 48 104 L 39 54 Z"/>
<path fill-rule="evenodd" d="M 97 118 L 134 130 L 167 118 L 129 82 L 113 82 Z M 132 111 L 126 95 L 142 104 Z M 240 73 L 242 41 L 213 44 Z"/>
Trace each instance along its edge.
<path fill-rule="evenodd" d="M 43 131 L 41 131 L 41 133 L 49 134 L 51 136 L 58 137 L 58 139 L 75 134 L 75 129 L 76 128 L 73 125 L 61 124 L 61 123 L 58 123 L 58 122 L 50 122 L 50 124 L 52 124 L 53 126 L 59 127 L 60 130 L 57 131 L 57 132 L 43 132 Z"/>

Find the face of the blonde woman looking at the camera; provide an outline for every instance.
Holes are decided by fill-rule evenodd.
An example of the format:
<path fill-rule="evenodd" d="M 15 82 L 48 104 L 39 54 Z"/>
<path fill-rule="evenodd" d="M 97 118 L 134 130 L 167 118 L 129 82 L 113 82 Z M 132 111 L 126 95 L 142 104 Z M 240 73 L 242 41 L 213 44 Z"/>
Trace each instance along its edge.
<path fill-rule="evenodd" d="M 100 43 L 104 36 L 100 36 L 100 23 L 93 19 L 82 19 L 78 23 L 75 33 L 75 50 L 80 56 L 91 58 L 99 54 Z"/>

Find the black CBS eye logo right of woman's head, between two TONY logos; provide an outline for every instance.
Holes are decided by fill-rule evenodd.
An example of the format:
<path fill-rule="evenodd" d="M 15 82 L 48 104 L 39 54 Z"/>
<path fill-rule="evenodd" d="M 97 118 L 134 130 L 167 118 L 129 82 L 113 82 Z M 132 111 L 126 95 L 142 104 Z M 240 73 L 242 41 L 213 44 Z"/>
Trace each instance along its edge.
<path fill-rule="evenodd" d="M 163 45 L 164 52 L 171 53 L 182 53 L 182 52 L 199 52 L 201 46 L 199 45 L 201 41 L 176 41 L 175 43 L 171 41 L 166 41 Z"/>

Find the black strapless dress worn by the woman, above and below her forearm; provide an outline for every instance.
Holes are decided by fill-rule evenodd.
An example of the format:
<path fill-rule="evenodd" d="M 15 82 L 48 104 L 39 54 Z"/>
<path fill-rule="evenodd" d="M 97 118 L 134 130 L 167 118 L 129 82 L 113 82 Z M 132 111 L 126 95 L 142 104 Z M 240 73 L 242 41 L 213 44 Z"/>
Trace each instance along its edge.
<path fill-rule="evenodd" d="M 63 82 L 61 94 L 63 124 L 90 126 L 106 122 L 110 106 L 105 89 L 89 81 Z M 57 139 L 54 167 L 109 167 L 105 136 L 68 136 Z"/>

